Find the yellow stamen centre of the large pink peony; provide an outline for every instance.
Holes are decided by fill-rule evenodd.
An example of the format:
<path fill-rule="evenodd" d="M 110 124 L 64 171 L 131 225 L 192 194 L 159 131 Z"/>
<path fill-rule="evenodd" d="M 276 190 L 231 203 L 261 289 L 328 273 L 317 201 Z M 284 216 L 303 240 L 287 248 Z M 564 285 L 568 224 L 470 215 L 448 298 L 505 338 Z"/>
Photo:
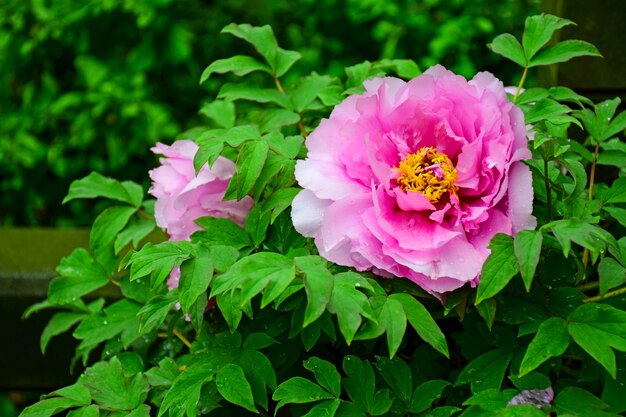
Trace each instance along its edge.
<path fill-rule="evenodd" d="M 418 191 L 432 203 L 447 193 L 456 193 L 454 185 L 458 175 L 448 155 L 437 152 L 433 147 L 423 147 L 408 154 L 400 165 L 393 168 L 398 172 L 398 186 L 405 191 Z"/>

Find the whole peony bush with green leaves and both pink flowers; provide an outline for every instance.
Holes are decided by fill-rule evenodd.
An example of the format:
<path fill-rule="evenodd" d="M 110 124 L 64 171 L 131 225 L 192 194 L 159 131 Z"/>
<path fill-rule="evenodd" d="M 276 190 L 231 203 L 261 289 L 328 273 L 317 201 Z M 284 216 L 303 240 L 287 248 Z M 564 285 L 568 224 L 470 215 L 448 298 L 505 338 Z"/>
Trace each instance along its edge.
<path fill-rule="evenodd" d="M 60 309 L 42 347 L 73 329 L 88 367 L 22 417 L 623 413 L 626 182 L 595 173 L 623 170 L 626 112 L 523 89 L 599 56 L 546 46 L 572 23 L 493 39 L 523 68 L 508 96 L 406 59 L 289 75 L 269 26 L 228 25 L 256 52 L 205 69 L 209 126 L 158 146 L 156 202 L 72 183 L 66 201 L 109 207 L 27 314 Z M 122 298 L 93 297 L 107 285 Z"/>

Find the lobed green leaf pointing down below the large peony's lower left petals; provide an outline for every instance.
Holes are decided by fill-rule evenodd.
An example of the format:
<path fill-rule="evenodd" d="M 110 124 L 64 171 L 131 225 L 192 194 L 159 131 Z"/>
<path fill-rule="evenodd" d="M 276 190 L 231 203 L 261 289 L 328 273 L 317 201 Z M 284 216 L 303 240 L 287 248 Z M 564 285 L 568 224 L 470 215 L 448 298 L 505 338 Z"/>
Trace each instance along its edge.
<path fill-rule="evenodd" d="M 369 299 L 358 290 L 358 288 L 370 291 L 373 289 L 365 278 L 354 272 L 337 274 L 334 280 L 328 311 L 337 315 L 339 330 L 349 345 L 361 325 L 361 316 L 376 320 Z"/>

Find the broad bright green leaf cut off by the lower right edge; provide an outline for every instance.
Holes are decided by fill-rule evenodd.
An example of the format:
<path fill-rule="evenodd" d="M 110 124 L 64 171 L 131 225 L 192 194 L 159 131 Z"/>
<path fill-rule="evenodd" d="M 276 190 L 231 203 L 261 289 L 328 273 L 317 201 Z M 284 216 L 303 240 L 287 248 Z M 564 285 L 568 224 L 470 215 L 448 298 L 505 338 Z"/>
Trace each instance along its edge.
<path fill-rule="evenodd" d="M 615 378 L 615 353 L 626 352 L 626 312 L 606 304 L 588 303 L 567 317 L 574 341 Z"/>

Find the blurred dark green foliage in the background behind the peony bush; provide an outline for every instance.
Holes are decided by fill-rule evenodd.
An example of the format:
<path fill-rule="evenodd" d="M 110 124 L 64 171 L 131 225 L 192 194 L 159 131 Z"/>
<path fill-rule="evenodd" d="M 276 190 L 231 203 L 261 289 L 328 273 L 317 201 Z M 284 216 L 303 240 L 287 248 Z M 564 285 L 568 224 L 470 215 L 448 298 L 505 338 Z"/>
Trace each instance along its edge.
<path fill-rule="evenodd" d="M 486 44 L 518 35 L 539 0 L 2 0 L 0 226 L 85 226 L 97 205 L 61 206 L 97 170 L 147 187 L 156 141 L 204 121 L 213 60 L 250 53 L 219 31 L 270 24 L 303 54 L 294 71 L 343 76 L 364 60 L 410 58 L 471 77 L 517 69 Z M 223 78 L 222 78 L 223 80 Z"/>

